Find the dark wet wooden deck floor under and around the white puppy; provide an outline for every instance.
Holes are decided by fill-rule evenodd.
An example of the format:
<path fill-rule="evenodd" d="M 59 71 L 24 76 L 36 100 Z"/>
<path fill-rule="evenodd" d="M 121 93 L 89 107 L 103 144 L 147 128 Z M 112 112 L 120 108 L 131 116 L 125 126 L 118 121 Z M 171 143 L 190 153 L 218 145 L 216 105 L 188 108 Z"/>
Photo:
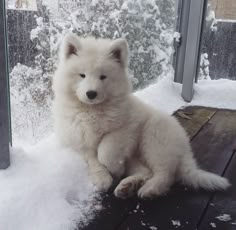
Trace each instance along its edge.
<path fill-rule="evenodd" d="M 217 174 L 226 172 L 226 176 L 236 186 L 233 178 L 236 157 L 232 157 L 236 149 L 236 112 L 189 107 L 175 113 L 175 116 L 192 139 L 195 156 L 201 167 Z M 215 206 L 209 205 L 210 202 Z M 236 218 L 236 195 L 233 193 L 192 191 L 181 185 L 173 186 L 166 196 L 156 200 L 141 201 L 134 198 L 123 201 L 109 195 L 104 204 L 106 208 L 83 230 L 195 230 L 197 227 L 207 230 L 212 229 L 209 221 L 213 222 L 214 215 L 218 213 L 228 212 L 232 218 Z M 174 221 L 179 221 L 180 226 Z M 236 229 L 236 225 L 225 225 L 227 228 L 222 225 L 224 228 L 218 229 Z"/>

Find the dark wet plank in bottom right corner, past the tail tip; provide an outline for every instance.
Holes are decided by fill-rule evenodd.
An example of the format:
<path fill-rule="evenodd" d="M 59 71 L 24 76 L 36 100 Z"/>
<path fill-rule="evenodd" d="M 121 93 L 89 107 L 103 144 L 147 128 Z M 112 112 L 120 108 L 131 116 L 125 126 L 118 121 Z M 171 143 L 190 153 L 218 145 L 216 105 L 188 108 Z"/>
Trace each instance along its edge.
<path fill-rule="evenodd" d="M 210 202 L 208 209 L 200 223 L 199 230 L 218 229 L 235 230 L 236 229 L 236 150 L 233 153 L 232 160 L 226 170 L 225 176 L 231 181 L 232 187 L 226 193 L 217 194 Z M 225 216 L 224 215 L 228 215 Z M 221 217 L 228 221 L 223 221 L 216 217 Z"/>

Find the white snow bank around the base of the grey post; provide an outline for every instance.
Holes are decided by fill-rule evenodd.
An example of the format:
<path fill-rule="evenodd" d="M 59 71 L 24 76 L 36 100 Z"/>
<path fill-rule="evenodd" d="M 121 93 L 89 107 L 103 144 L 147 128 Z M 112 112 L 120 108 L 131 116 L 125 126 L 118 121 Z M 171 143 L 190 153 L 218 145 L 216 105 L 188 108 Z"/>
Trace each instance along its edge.
<path fill-rule="evenodd" d="M 172 114 L 183 106 L 206 106 L 236 110 L 236 81 L 228 79 L 200 80 L 194 85 L 193 100 L 181 97 L 182 85 L 167 76 L 142 91 L 136 92 L 147 104 Z"/>

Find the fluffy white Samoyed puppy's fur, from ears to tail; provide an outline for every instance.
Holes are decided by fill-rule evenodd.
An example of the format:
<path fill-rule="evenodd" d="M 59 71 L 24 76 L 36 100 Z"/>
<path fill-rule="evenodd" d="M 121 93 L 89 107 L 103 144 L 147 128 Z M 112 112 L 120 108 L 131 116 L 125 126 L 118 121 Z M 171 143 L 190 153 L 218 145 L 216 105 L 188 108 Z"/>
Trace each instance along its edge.
<path fill-rule="evenodd" d="M 198 168 L 189 139 L 174 117 L 131 93 L 124 39 L 64 39 L 54 77 L 55 131 L 88 162 L 93 183 L 127 198 L 150 198 L 175 181 L 194 188 L 226 189 L 229 182 Z M 80 74 L 85 74 L 81 77 Z M 106 79 L 100 79 L 105 75 Z M 97 97 L 89 99 L 88 91 Z M 164 100 L 164 99 L 163 99 Z M 78 175 L 79 176 L 79 175 Z"/>

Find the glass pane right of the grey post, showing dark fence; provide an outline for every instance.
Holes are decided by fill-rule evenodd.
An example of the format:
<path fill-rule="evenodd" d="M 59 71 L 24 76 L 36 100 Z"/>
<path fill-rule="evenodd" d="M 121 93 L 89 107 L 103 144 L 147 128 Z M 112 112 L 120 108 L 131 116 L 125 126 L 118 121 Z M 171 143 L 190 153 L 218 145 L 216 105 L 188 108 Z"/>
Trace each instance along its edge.
<path fill-rule="evenodd" d="M 236 2 L 209 0 L 201 50 L 200 79 L 236 80 Z"/>

